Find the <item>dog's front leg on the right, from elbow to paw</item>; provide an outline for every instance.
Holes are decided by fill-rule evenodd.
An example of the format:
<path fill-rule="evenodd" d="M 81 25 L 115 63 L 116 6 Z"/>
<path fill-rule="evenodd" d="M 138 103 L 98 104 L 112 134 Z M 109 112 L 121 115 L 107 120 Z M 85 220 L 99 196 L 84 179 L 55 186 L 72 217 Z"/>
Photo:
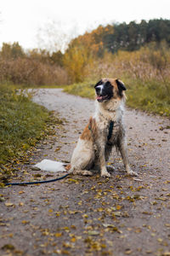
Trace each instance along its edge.
<path fill-rule="evenodd" d="M 121 152 L 122 161 L 123 161 L 123 164 L 124 164 L 125 169 L 127 171 L 127 174 L 131 175 L 131 176 L 138 176 L 138 173 L 137 172 L 133 172 L 133 170 L 129 166 L 128 155 L 127 155 L 127 143 L 126 143 L 125 139 L 122 139 L 122 141 L 119 144 L 118 148 L 119 148 L 119 150 Z"/>

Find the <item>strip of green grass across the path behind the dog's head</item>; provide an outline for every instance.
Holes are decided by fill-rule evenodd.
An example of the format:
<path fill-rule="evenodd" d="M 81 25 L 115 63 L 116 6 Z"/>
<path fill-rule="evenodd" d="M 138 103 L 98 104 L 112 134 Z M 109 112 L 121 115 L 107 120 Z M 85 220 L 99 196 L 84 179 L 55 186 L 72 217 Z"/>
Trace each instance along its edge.
<path fill-rule="evenodd" d="M 140 80 L 123 79 L 127 84 L 127 106 L 139 108 L 149 113 L 170 115 L 170 96 L 166 88 L 157 81 L 142 82 Z M 71 84 L 64 91 L 73 95 L 94 98 L 94 83 Z"/>

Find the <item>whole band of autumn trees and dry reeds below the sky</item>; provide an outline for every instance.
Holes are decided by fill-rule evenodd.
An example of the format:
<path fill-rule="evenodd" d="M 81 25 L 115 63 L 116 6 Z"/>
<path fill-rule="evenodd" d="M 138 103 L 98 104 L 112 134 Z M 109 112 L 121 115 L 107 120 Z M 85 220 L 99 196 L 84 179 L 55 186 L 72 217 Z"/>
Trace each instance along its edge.
<path fill-rule="evenodd" d="M 72 39 L 64 54 L 3 44 L 0 82 L 39 86 L 119 77 L 129 87 L 160 87 L 163 97 L 170 94 L 169 33 L 170 20 L 142 20 L 99 26 Z"/>

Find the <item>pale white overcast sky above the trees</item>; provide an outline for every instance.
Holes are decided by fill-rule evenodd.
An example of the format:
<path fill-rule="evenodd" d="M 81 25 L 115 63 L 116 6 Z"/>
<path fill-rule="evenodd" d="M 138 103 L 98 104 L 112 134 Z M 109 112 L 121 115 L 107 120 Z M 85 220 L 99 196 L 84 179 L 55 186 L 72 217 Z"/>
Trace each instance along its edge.
<path fill-rule="evenodd" d="M 0 46 L 31 49 L 42 47 L 42 38 L 48 47 L 54 34 L 62 42 L 62 33 L 71 38 L 99 24 L 170 19 L 170 0 L 0 0 L 0 13 Z"/>

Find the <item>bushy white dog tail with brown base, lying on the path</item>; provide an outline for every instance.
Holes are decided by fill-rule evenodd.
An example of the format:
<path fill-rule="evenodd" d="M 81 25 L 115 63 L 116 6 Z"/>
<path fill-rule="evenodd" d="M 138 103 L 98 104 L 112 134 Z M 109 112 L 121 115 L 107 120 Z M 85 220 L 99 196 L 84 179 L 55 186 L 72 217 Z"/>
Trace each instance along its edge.
<path fill-rule="evenodd" d="M 37 163 L 35 167 L 39 168 L 42 171 L 47 172 L 68 172 L 71 169 L 71 165 L 64 164 L 58 161 L 44 159 L 41 162 Z"/>

